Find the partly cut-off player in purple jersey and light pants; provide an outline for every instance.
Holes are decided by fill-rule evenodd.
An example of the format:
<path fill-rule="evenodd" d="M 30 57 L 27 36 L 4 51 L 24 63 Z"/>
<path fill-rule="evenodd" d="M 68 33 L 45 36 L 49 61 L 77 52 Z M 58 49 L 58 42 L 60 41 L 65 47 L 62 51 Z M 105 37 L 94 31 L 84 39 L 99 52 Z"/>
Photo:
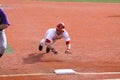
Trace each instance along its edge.
<path fill-rule="evenodd" d="M 3 11 L 2 8 L 0 8 L 0 58 L 4 54 L 6 47 L 7 47 L 7 41 L 6 41 L 6 35 L 5 30 L 10 25 L 9 20 Z"/>

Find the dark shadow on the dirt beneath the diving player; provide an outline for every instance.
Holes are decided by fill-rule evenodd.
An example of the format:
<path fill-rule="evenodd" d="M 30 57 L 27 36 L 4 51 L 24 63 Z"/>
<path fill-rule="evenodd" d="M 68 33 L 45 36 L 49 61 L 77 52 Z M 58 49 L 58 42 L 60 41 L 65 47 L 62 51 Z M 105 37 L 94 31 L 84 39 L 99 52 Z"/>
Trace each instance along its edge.
<path fill-rule="evenodd" d="M 62 62 L 61 60 L 43 60 L 43 56 L 46 55 L 46 53 L 32 53 L 29 54 L 27 58 L 23 58 L 24 64 L 34 64 L 37 62 Z"/>

